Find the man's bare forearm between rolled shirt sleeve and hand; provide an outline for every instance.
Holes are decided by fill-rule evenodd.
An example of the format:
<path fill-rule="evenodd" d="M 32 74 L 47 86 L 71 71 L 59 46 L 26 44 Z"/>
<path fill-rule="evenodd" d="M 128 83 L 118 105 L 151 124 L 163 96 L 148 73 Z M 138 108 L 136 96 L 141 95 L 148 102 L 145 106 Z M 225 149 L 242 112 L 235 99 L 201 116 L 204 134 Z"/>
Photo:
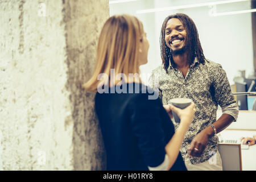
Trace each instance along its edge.
<path fill-rule="evenodd" d="M 220 118 L 217 119 L 216 122 L 213 123 L 213 126 L 216 128 L 217 133 L 221 132 L 222 130 L 226 129 L 235 119 L 232 115 L 229 114 L 222 114 Z M 208 126 L 203 132 L 207 133 L 209 137 L 214 136 L 214 130 L 212 126 Z"/>

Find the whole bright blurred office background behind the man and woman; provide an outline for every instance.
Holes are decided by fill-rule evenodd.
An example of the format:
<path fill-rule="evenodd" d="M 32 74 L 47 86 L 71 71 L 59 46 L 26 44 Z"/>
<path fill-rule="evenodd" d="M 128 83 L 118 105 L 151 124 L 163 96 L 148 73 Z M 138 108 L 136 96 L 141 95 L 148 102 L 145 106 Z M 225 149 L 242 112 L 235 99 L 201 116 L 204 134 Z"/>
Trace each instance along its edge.
<path fill-rule="evenodd" d="M 192 18 L 199 31 L 199 39 L 207 59 L 222 65 L 228 76 L 232 92 L 254 92 L 256 81 L 256 1 L 248 0 L 110 0 L 110 16 L 132 14 L 139 18 L 150 43 L 148 63 L 141 66 L 144 82 L 153 69 L 162 63 L 160 57 L 160 30 L 164 19 L 171 14 L 184 13 Z M 254 95 L 234 94 L 240 109 L 237 122 L 218 134 L 224 170 L 256 169 L 256 145 L 240 146 L 239 154 L 230 150 L 239 145 L 241 137 L 256 132 L 256 112 L 252 111 Z M 217 111 L 217 118 L 222 114 Z M 230 145 L 230 146 L 229 146 Z M 242 150 L 241 150 L 242 148 Z M 238 152 L 237 152 L 238 153 Z M 232 154 L 232 155 L 230 155 Z M 229 160 L 230 159 L 230 160 Z M 228 161 L 228 162 L 227 162 Z M 228 168 L 227 168 L 228 167 Z M 240 169 L 234 169 L 238 167 Z"/>

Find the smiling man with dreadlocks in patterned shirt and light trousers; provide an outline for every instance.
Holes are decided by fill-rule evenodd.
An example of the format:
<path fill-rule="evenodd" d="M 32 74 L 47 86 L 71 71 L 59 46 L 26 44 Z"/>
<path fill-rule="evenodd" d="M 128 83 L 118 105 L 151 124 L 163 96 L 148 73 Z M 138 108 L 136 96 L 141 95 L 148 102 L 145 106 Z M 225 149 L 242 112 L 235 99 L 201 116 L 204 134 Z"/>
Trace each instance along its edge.
<path fill-rule="evenodd" d="M 162 65 L 152 71 L 151 86 L 163 105 L 190 98 L 195 117 L 180 148 L 188 170 L 222 170 L 217 133 L 238 117 L 238 106 L 220 64 L 207 60 L 195 23 L 185 14 L 167 16 L 160 35 Z M 216 121 L 218 105 L 222 115 Z M 175 123 L 175 128 L 179 123 Z"/>

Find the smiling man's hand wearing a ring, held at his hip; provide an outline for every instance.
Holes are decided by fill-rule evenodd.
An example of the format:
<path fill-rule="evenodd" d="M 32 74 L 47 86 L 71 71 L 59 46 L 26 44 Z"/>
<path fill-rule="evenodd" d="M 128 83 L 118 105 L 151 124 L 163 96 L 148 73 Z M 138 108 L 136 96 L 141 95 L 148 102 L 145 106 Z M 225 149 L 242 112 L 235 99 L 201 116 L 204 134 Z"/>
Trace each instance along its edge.
<path fill-rule="evenodd" d="M 192 140 L 188 148 L 188 154 L 193 157 L 200 157 L 203 154 L 205 147 L 207 146 L 208 140 L 208 134 L 205 133 L 204 131 L 201 131 Z"/>

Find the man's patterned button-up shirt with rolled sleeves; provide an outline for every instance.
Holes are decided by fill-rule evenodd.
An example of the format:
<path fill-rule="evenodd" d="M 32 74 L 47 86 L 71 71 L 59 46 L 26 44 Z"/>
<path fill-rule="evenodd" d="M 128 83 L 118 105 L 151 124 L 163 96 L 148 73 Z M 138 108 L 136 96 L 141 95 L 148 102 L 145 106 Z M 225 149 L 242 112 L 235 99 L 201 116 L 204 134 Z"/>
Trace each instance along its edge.
<path fill-rule="evenodd" d="M 168 104 L 171 98 L 190 98 L 195 102 L 195 117 L 180 148 L 183 158 L 193 138 L 216 121 L 218 105 L 221 106 L 222 113 L 230 114 L 237 120 L 238 106 L 231 92 L 226 72 L 220 64 L 213 61 L 206 60 L 205 64 L 200 64 L 195 59 L 185 78 L 181 71 L 172 67 L 171 64 L 168 73 L 163 65 L 160 65 L 152 71 L 150 86 L 158 89 L 163 105 Z M 179 123 L 174 121 L 173 123 L 176 130 Z M 202 163 L 208 160 L 218 150 L 218 143 L 216 135 L 209 138 L 208 145 L 200 158 L 189 157 L 191 163 Z"/>

